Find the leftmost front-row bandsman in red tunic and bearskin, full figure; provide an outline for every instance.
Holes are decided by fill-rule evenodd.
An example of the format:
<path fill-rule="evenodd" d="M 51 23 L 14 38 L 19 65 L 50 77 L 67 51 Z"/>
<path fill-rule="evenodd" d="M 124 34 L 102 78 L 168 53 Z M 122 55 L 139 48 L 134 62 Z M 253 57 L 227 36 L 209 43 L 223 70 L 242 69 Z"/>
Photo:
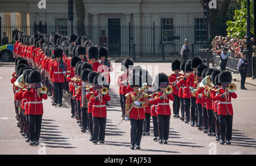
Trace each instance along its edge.
<path fill-rule="evenodd" d="M 42 117 L 43 117 L 43 103 L 42 100 L 47 99 L 46 93 L 41 93 L 40 88 L 36 88 L 36 84 L 41 83 L 41 74 L 38 70 L 31 71 L 28 76 L 30 86 L 23 93 L 23 98 L 28 98 L 28 114 L 30 126 L 30 145 L 38 145 L 41 131 Z"/>

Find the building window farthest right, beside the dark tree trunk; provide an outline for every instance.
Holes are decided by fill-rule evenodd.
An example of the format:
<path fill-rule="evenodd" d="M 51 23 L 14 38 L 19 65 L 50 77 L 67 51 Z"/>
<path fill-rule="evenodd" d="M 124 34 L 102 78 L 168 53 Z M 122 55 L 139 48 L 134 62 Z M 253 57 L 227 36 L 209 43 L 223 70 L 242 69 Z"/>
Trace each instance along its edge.
<path fill-rule="evenodd" d="M 195 42 L 196 44 L 205 44 L 206 41 L 206 24 L 203 18 L 195 18 Z"/>

